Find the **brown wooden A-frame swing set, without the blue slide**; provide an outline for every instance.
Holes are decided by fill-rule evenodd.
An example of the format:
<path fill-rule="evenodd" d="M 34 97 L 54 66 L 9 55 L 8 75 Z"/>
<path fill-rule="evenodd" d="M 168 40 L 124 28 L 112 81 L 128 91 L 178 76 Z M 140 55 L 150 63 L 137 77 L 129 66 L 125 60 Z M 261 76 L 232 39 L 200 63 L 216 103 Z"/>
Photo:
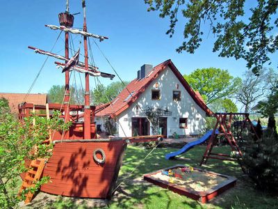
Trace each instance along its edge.
<path fill-rule="evenodd" d="M 231 150 L 240 157 L 243 156 L 243 153 L 240 151 L 237 141 L 242 139 L 242 132 L 245 127 L 250 127 L 251 131 L 256 135 L 256 138 L 259 139 L 249 118 L 249 114 L 215 113 L 214 116 L 216 118 L 215 127 L 213 128 L 210 139 L 208 139 L 208 145 L 206 146 L 200 166 L 202 166 L 202 164 L 206 164 L 208 158 L 236 161 L 236 158 L 232 158 L 231 155 L 211 152 L 213 150 L 213 146 L 218 144 L 218 137 L 223 137 L 223 140 L 226 140 L 229 146 L 231 146 Z"/>

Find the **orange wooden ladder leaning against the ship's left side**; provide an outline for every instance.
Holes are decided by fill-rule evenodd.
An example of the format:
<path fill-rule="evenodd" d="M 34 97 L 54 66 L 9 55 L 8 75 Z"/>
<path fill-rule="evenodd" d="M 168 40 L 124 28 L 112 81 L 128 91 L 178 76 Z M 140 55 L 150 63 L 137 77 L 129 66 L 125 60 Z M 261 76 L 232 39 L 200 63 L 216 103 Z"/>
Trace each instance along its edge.
<path fill-rule="evenodd" d="M 22 182 L 22 186 L 19 189 L 19 195 L 22 193 L 23 189 L 35 187 L 36 181 L 40 180 L 42 176 L 45 161 L 45 159 L 37 159 L 31 161 L 29 169 L 26 172 L 25 178 Z M 26 194 L 25 203 L 30 203 L 33 199 L 33 196 L 33 193 L 28 192 L 28 194 Z"/>

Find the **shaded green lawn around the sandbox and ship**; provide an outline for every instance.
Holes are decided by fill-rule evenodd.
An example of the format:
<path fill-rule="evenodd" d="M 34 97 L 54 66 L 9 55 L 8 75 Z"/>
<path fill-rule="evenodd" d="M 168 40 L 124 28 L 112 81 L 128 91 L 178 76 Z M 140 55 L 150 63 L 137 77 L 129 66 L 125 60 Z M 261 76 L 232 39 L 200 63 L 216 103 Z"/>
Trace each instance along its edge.
<path fill-rule="evenodd" d="M 165 160 L 165 154 L 175 148 L 156 148 L 145 161 L 142 159 L 151 151 L 140 146 L 128 146 L 117 183 L 122 183 L 120 192 L 104 208 L 278 208 L 278 197 L 254 189 L 252 181 L 245 175 L 236 162 L 208 160 L 202 169 L 223 173 L 238 178 L 236 187 L 227 190 L 209 203 L 202 204 L 186 196 L 140 180 L 144 173 L 185 164 L 199 167 L 206 146 L 195 146 L 178 160 Z M 215 147 L 214 152 L 230 153 L 228 146 Z M 130 176 L 133 168 L 138 168 Z M 134 180 L 136 179 L 136 180 Z M 40 208 L 88 208 L 86 201 L 59 198 Z"/>

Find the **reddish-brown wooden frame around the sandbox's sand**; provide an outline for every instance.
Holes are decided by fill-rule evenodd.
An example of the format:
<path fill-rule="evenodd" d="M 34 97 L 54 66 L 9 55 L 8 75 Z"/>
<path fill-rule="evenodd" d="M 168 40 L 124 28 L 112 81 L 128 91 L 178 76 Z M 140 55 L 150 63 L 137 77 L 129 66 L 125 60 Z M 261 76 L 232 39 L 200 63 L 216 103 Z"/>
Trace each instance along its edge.
<path fill-rule="evenodd" d="M 168 167 L 166 169 L 160 169 L 158 171 L 154 171 L 152 173 L 147 173 L 144 175 L 144 180 L 147 180 L 149 183 L 153 183 L 154 185 L 158 185 L 160 187 L 163 187 L 165 189 L 170 189 L 172 192 L 188 196 L 191 199 L 194 199 L 196 201 L 201 201 L 202 203 L 206 203 L 207 201 L 213 199 L 218 194 L 222 194 L 222 192 L 226 191 L 227 189 L 230 189 L 231 187 L 234 187 L 236 185 L 236 178 L 232 176 L 227 176 L 220 173 L 214 173 L 211 171 L 204 171 L 202 169 L 196 169 L 196 171 L 201 171 L 208 173 L 211 176 L 220 176 L 222 178 L 227 178 L 223 183 L 220 183 L 219 185 L 212 187 L 211 189 L 206 190 L 205 192 L 197 192 L 194 189 L 181 187 L 179 185 L 176 185 L 174 183 L 169 183 L 165 180 L 160 180 L 157 178 L 154 178 L 153 175 L 156 173 L 159 173 L 161 171 L 169 170 L 169 169 L 177 169 L 177 168 L 183 168 L 186 167 L 183 164 L 177 164 L 172 167 Z"/>

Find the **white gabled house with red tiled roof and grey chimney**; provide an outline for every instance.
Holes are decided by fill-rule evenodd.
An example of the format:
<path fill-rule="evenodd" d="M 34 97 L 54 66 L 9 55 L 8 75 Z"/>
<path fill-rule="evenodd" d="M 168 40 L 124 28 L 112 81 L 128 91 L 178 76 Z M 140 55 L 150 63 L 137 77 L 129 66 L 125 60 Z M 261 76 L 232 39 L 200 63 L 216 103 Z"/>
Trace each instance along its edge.
<path fill-rule="evenodd" d="M 132 95 L 132 96 L 131 96 Z M 159 130 L 167 137 L 174 134 L 200 134 L 206 107 L 199 93 L 193 91 L 171 60 L 156 67 L 142 65 L 133 79 L 111 103 L 96 114 L 97 128 L 112 118 L 119 137 L 154 134 L 147 115 L 159 118 Z"/>

